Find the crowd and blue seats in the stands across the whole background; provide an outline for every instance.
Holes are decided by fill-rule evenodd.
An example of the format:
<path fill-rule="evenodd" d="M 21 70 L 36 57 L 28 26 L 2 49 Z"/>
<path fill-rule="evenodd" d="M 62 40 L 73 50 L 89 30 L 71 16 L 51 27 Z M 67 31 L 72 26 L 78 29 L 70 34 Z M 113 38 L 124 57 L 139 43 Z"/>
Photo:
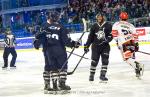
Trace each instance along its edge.
<path fill-rule="evenodd" d="M 136 27 L 150 26 L 150 2 L 148 0 L 69 0 L 67 7 L 56 10 L 61 13 L 62 24 L 66 27 L 76 25 L 78 27 L 76 29 L 80 29 L 82 18 L 86 18 L 91 24 L 95 22 L 95 16 L 99 12 L 104 13 L 107 21 L 114 23 L 119 20 L 121 11 L 128 13 L 129 21 Z M 23 28 L 22 25 L 28 24 L 40 25 L 46 21 L 46 13 L 49 11 L 15 13 L 16 20 L 14 19 L 11 25 L 14 29 L 15 27 Z"/>

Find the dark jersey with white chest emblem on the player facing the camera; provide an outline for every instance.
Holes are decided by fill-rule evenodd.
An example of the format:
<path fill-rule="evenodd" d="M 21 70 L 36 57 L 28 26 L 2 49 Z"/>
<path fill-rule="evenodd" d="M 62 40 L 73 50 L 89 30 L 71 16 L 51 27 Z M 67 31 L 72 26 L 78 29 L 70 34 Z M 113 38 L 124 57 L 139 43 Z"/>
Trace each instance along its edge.
<path fill-rule="evenodd" d="M 109 43 L 113 39 L 111 30 L 112 25 L 108 22 L 104 22 L 102 25 L 98 23 L 93 24 L 86 45 L 90 46 L 92 43 L 100 45 L 103 41 Z"/>

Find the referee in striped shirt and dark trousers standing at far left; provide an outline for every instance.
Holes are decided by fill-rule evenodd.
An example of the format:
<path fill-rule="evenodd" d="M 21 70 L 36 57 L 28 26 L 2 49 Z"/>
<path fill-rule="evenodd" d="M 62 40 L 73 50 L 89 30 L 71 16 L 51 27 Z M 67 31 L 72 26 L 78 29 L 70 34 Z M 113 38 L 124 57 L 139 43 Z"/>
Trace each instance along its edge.
<path fill-rule="evenodd" d="M 4 48 L 4 53 L 3 53 L 4 66 L 2 67 L 2 69 L 6 69 L 8 67 L 8 56 L 10 53 L 12 55 L 10 68 L 16 68 L 15 66 L 16 58 L 17 58 L 17 53 L 15 50 L 16 39 L 11 31 L 6 32 L 4 43 L 5 43 L 5 48 Z"/>

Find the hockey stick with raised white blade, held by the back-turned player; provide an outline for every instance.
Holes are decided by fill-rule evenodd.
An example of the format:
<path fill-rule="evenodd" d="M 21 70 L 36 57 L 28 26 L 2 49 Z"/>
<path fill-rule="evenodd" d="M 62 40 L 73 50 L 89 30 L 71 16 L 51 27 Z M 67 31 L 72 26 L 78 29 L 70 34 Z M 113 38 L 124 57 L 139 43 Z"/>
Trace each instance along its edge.
<path fill-rule="evenodd" d="M 84 31 L 82 33 L 82 35 L 80 36 L 80 38 L 78 39 L 78 42 L 82 39 L 83 35 L 85 34 L 85 32 L 87 31 L 87 24 L 86 24 L 86 20 L 84 18 L 82 18 L 83 21 L 83 25 L 84 25 Z M 74 52 L 75 48 L 72 49 L 72 51 L 70 52 L 70 54 L 67 57 L 67 60 L 63 63 L 61 69 L 59 70 L 59 72 L 62 71 L 62 69 L 64 68 L 64 66 L 67 64 L 69 58 L 71 57 L 72 53 Z"/>

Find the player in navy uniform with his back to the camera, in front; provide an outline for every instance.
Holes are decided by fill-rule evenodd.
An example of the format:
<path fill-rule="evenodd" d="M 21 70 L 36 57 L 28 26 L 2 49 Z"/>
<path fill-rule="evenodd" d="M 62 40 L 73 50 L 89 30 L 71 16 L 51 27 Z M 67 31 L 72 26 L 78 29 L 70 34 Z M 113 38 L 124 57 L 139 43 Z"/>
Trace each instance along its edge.
<path fill-rule="evenodd" d="M 47 17 L 47 22 L 42 27 L 42 33 L 37 35 L 39 40 L 44 39 L 45 54 L 48 58 L 48 64 L 45 66 L 44 72 L 51 74 L 53 90 L 71 90 L 70 86 L 66 85 L 67 79 L 67 64 L 59 72 L 67 60 L 65 46 L 78 48 L 80 43 L 72 41 L 68 37 L 67 30 L 58 24 L 59 13 L 51 12 Z M 38 44 L 38 43 L 37 43 Z M 45 73 L 45 77 L 49 76 Z"/>

